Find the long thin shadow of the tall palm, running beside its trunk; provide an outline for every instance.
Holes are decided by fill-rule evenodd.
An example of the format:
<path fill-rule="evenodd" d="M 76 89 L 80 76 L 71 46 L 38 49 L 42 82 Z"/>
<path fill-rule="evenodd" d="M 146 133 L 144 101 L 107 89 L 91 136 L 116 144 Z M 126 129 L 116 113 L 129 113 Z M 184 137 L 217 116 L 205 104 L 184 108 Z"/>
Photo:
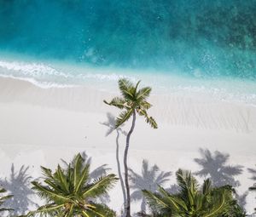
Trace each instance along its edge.
<path fill-rule="evenodd" d="M 124 134 L 125 136 L 127 135 L 127 133 L 125 132 L 125 130 L 122 130 L 122 128 L 115 128 L 115 117 L 111 114 L 111 113 L 107 113 L 107 118 L 108 121 L 101 123 L 102 125 L 105 125 L 108 127 L 108 131 L 105 134 L 105 136 L 108 136 L 109 134 L 112 134 L 113 131 L 116 132 L 116 138 L 115 138 L 115 144 L 116 144 L 116 152 L 115 152 L 115 157 L 116 157 L 116 162 L 117 162 L 117 168 L 118 168 L 118 174 L 119 174 L 119 180 L 120 180 L 120 184 L 122 187 L 122 192 L 123 192 L 123 198 L 124 198 L 124 207 L 126 204 L 126 191 L 125 191 L 125 182 L 123 179 L 123 175 L 121 172 L 121 166 L 120 166 L 120 161 L 119 161 L 119 137 L 121 134 Z"/>

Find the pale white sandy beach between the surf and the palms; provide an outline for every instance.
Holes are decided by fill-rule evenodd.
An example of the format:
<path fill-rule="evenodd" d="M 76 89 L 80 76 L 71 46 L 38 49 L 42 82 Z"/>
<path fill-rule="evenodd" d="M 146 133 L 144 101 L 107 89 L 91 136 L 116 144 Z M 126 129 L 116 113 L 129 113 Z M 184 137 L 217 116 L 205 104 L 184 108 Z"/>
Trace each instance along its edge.
<path fill-rule="evenodd" d="M 32 178 L 40 175 L 40 165 L 55 168 L 60 159 L 69 160 L 78 151 L 92 157 L 92 168 L 108 164 L 118 174 L 116 161 L 117 132 L 106 136 L 109 117 L 119 111 L 102 100 L 113 93 L 85 87 L 41 89 L 32 83 L 0 78 L 0 155 L 1 177 L 9 177 L 11 164 L 19 172 L 29 166 Z M 230 154 L 226 165 L 242 165 L 243 173 L 234 176 L 242 194 L 253 184 L 247 168 L 255 168 L 256 107 L 202 97 L 189 98 L 177 94 L 152 95 L 150 114 L 160 128 L 149 128 L 137 120 L 131 138 L 129 164 L 141 174 L 143 159 L 163 171 L 172 171 L 174 183 L 177 168 L 201 169 L 194 158 L 201 158 L 199 149 Z M 107 115 L 108 114 L 108 115 Z M 110 118 L 111 119 L 111 118 Z M 108 125 L 108 126 L 107 126 Z M 123 130 L 127 131 L 129 123 Z M 124 134 L 119 136 L 119 157 L 122 163 Z M 217 169 L 218 170 L 218 169 Z M 232 175 L 231 175 L 232 176 Z M 109 205 L 119 211 L 122 191 L 119 185 L 110 192 Z M 253 211 L 255 195 L 249 193 L 246 208 Z M 137 211 L 140 203 L 133 206 Z"/>

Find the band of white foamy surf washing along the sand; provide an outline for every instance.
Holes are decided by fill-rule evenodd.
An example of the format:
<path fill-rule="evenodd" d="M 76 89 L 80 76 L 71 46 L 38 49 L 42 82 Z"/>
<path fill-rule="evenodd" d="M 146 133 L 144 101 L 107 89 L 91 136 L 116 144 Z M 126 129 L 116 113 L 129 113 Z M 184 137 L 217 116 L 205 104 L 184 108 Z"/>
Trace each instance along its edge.
<path fill-rule="evenodd" d="M 0 75 L 26 80 L 40 88 L 68 88 L 89 86 L 116 92 L 117 81 L 128 78 L 132 82 L 143 80 L 152 86 L 154 94 L 177 94 L 212 98 L 256 105 L 256 85 L 238 78 L 200 78 L 180 75 L 179 71 L 136 71 L 111 67 L 92 67 L 61 62 L 0 60 Z"/>

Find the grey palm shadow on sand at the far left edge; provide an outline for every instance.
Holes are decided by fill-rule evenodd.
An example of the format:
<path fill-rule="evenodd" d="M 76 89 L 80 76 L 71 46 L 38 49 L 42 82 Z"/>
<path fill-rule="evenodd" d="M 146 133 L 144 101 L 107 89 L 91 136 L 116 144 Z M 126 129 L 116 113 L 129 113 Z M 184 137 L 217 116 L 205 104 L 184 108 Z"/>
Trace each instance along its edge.
<path fill-rule="evenodd" d="M 0 186 L 9 191 L 9 194 L 14 195 L 5 204 L 14 208 L 11 214 L 15 216 L 25 214 L 31 206 L 38 206 L 31 199 L 34 192 L 31 189 L 32 177 L 27 174 L 28 168 L 23 165 L 19 172 L 15 172 L 15 166 L 12 163 L 9 179 L 0 180 Z"/>

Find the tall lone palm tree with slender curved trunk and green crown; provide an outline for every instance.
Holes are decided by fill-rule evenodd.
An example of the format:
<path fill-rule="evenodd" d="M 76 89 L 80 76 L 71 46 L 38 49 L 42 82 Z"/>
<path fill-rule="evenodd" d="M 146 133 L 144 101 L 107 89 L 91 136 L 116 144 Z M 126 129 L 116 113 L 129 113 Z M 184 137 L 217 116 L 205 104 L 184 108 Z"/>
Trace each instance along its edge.
<path fill-rule="evenodd" d="M 119 128 L 123 123 L 128 121 L 132 117 L 131 129 L 126 136 L 126 146 L 124 155 L 124 167 L 125 167 L 125 189 L 126 189 L 126 216 L 131 217 L 131 196 L 130 187 L 128 181 L 128 165 L 127 156 L 130 145 L 130 137 L 135 127 L 136 115 L 145 117 L 146 123 L 149 123 L 152 128 L 157 128 L 157 123 L 153 117 L 148 116 L 148 109 L 152 106 L 148 103 L 147 99 L 151 93 L 151 88 L 145 87 L 143 89 L 137 89 L 140 81 L 134 85 L 129 80 L 122 78 L 119 80 L 119 90 L 122 97 L 114 97 L 113 100 L 107 102 L 109 106 L 115 106 L 122 110 L 119 117 L 116 119 L 115 128 Z"/>

